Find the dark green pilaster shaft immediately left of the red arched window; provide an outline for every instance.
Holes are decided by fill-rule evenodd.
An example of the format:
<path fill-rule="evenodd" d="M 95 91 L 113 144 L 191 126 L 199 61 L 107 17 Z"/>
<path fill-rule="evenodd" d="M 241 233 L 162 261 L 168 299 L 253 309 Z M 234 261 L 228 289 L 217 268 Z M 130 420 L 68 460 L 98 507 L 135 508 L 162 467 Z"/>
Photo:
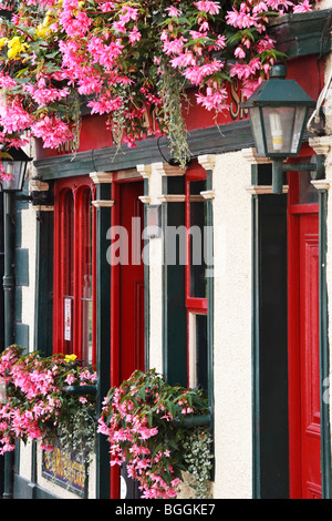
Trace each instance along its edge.
<path fill-rule="evenodd" d="M 53 353 L 53 212 L 37 213 L 34 349 Z"/>

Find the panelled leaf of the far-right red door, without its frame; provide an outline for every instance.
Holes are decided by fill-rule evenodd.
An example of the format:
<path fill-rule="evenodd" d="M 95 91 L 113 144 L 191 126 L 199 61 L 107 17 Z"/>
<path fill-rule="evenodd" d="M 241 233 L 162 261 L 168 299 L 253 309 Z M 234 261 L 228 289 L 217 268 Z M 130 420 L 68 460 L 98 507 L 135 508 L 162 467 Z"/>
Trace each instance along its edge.
<path fill-rule="evenodd" d="M 300 396 L 302 497 L 321 497 L 318 215 L 300 223 Z"/>

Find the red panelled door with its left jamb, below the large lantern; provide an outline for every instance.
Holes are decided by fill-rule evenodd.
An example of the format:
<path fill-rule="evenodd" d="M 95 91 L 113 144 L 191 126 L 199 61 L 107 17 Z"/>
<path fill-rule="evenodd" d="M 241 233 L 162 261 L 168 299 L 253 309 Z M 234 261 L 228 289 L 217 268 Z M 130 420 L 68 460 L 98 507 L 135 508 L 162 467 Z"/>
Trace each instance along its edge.
<path fill-rule="evenodd" d="M 319 214 L 289 210 L 290 497 L 320 499 Z"/>

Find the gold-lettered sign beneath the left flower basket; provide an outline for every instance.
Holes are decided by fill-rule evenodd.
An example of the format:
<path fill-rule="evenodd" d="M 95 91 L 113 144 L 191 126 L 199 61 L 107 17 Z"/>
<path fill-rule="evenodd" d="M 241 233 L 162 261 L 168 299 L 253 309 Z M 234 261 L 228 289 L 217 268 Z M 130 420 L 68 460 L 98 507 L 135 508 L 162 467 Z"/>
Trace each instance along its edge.
<path fill-rule="evenodd" d="M 61 447 L 43 451 L 42 476 L 82 498 L 85 496 L 87 474 L 81 454 L 69 454 Z"/>

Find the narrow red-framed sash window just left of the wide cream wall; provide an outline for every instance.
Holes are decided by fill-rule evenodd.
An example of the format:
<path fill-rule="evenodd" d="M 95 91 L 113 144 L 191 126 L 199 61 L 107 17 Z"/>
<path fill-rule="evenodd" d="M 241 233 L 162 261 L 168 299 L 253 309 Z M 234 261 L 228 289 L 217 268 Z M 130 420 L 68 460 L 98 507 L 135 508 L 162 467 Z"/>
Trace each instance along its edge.
<path fill-rule="evenodd" d="M 186 174 L 188 386 L 207 389 L 206 172 Z"/>

